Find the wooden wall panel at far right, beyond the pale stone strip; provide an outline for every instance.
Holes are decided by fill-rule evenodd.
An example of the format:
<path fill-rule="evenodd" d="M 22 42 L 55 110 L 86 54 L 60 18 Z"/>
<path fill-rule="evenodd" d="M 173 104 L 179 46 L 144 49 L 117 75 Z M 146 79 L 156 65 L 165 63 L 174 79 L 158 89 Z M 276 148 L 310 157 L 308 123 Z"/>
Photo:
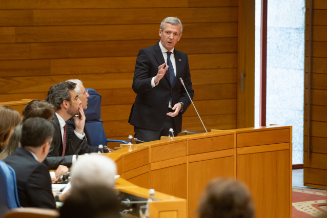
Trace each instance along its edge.
<path fill-rule="evenodd" d="M 327 156 L 327 2 L 313 2 L 312 17 L 312 42 L 310 35 L 310 1 L 306 0 L 306 28 L 305 28 L 305 77 L 304 77 L 304 185 L 317 188 L 326 188 L 327 168 L 325 157 Z M 309 49 L 312 50 L 310 54 Z M 311 55 L 311 56 L 310 56 Z M 309 60 L 312 60 L 312 68 Z M 309 78 L 309 70 L 311 77 Z M 310 91 L 309 83 L 311 85 Z M 310 95 L 310 102 L 309 102 Z M 310 107 L 310 112 L 309 112 Z M 310 113 L 310 114 L 309 114 Z M 309 121 L 310 115 L 310 121 Z M 310 124 L 310 125 L 309 125 Z M 309 128 L 310 126 L 310 128 Z M 309 128 L 309 129 L 308 129 Z M 310 131 L 310 142 L 308 149 L 308 130 Z M 309 157 L 308 157 L 309 152 Z"/>

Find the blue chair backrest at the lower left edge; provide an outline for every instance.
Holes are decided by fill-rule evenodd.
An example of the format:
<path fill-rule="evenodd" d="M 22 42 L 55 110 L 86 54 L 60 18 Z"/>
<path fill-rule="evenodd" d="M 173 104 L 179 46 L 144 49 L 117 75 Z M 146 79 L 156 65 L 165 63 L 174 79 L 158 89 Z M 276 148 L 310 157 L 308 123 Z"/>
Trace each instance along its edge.
<path fill-rule="evenodd" d="M 21 207 L 18 200 L 15 171 L 3 161 L 0 161 L 0 184 L 0 212 Z"/>

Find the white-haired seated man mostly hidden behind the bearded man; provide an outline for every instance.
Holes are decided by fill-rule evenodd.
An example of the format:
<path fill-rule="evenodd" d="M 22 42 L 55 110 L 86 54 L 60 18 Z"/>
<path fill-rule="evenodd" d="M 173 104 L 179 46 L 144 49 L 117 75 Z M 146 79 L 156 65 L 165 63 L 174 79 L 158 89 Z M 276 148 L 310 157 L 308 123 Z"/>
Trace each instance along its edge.
<path fill-rule="evenodd" d="M 66 82 L 74 82 L 76 83 L 76 88 L 75 92 L 78 95 L 78 98 L 81 101 L 81 105 L 83 110 L 88 108 L 88 97 L 90 96 L 88 91 L 84 88 L 83 82 L 80 81 L 79 79 L 70 79 L 67 80 Z M 75 122 L 73 118 L 70 118 L 69 120 L 66 121 L 68 125 L 68 133 L 69 136 L 74 134 L 74 130 L 76 128 Z M 84 133 L 85 133 L 85 138 L 83 140 L 83 145 L 81 146 L 81 149 L 79 150 L 78 155 L 82 155 L 85 153 L 91 153 L 91 152 L 97 152 L 98 147 L 93 147 L 91 136 L 86 128 L 86 125 L 84 125 Z"/>

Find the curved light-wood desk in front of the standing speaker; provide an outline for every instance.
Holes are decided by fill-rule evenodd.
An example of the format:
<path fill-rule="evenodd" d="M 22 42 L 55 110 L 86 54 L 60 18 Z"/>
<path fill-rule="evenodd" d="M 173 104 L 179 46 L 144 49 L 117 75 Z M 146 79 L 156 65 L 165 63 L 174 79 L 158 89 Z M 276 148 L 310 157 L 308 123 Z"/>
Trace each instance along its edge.
<path fill-rule="evenodd" d="M 167 205 L 168 216 L 157 210 L 151 217 L 197 217 L 198 198 L 216 177 L 247 184 L 256 217 L 292 217 L 292 126 L 213 129 L 173 141 L 162 137 L 106 155 L 116 162 L 122 179 L 186 199 L 185 215 Z"/>

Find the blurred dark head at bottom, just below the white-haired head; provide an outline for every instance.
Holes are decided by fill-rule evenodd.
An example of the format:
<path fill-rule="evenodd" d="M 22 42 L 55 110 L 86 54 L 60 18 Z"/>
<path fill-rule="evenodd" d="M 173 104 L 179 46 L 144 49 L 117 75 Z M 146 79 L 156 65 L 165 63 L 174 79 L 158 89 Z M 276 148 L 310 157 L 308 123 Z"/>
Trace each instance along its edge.
<path fill-rule="evenodd" d="M 106 185 L 90 185 L 76 189 L 60 209 L 60 218 L 120 218 L 116 191 Z"/>

